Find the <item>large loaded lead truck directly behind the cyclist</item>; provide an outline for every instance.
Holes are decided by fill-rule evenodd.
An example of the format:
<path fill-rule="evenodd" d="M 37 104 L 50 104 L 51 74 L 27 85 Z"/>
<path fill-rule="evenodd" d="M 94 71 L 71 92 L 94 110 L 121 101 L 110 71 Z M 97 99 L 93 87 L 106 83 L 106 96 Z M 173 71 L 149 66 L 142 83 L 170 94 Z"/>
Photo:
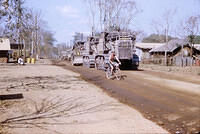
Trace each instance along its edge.
<path fill-rule="evenodd" d="M 98 44 L 94 47 L 96 69 L 105 69 L 109 64 L 109 55 L 112 51 L 119 58 L 120 68 L 135 68 L 139 62 L 135 62 L 135 34 L 124 31 L 102 32 Z"/>

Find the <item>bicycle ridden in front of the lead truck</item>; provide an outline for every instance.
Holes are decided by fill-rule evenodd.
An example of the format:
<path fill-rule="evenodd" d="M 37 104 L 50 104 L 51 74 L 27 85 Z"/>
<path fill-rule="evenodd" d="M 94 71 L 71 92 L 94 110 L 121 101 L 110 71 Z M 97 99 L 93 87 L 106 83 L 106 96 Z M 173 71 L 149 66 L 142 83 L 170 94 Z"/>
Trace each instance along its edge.
<path fill-rule="evenodd" d="M 121 80 L 121 71 L 119 69 L 119 64 L 115 64 L 113 68 L 113 74 L 111 74 L 111 65 L 108 63 L 108 67 L 106 68 L 106 78 L 116 78 L 117 80 Z"/>

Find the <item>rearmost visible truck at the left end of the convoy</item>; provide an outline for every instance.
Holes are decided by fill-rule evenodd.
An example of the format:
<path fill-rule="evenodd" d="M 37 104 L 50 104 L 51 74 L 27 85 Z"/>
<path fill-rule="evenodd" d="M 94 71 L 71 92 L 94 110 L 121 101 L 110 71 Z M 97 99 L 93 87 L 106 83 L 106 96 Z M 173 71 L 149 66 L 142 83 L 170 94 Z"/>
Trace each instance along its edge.
<path fill-rule="evenodd" d="M 71 64 L 83 65 L 83 50 L 84 50 L 84 41 L 76 41 L 72 48 L 71 54 Z"/>

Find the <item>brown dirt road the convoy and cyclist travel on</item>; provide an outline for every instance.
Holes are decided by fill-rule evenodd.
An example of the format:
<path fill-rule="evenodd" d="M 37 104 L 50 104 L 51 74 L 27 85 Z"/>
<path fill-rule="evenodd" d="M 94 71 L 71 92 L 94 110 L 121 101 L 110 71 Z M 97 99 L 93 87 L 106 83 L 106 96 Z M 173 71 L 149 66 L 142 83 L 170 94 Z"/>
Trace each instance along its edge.
<path fill-rule="evenodd" d="M 122 71 L 124 80 L 106 80 L 105 73 L 60 63 L 63 68 L 104 89 L 172 133 L 200 132 L 200 76 L 157 71 Z"/>

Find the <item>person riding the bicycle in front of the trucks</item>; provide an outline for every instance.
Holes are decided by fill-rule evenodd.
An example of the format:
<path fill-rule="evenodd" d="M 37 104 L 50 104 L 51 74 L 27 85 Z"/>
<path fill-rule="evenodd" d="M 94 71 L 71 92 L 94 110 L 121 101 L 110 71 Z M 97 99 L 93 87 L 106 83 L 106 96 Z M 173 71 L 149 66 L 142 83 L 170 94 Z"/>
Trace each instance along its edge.
<path fill-rule="evenodd" d="M 119 61 L 119 59 L 115 55 L 114 51 L 112 51 L 110 56 L 109 56 L 109 63 L 110 63 L 110 67 L 111 67 L 111 74 L 113 74 L 114 67 L 121 65 L 121 62 Z"/>

